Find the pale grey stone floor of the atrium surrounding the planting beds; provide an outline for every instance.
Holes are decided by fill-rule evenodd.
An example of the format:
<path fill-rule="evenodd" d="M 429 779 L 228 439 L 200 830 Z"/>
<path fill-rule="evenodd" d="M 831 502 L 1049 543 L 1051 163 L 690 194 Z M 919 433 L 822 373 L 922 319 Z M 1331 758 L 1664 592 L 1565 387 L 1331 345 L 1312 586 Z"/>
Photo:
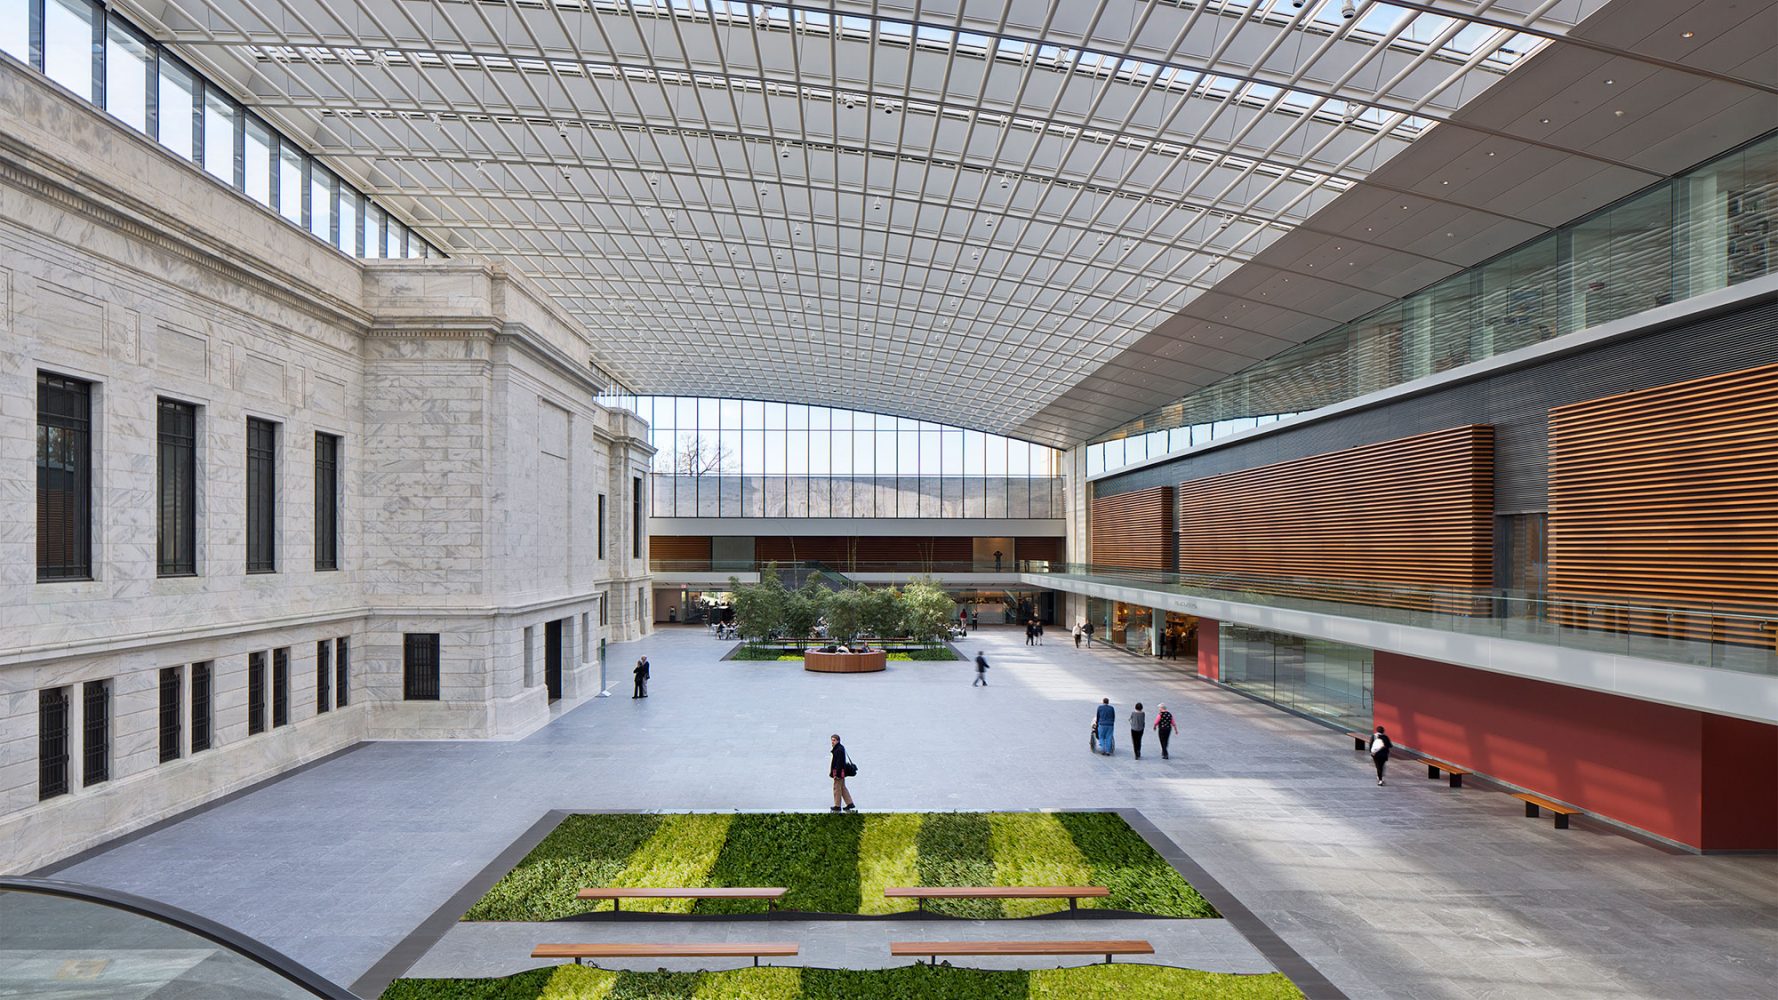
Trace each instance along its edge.
<path fill-rule="evenodd" d="M 679 628 L 653 698 L 589 701 L 517 742 L 372 744 L 59 877 L 162 899 L 352 982 L 548 810 L 809 810 L 827 735 L 864 810 L 1136 808 L 1351 996 L 1773 996 L 1778 859 L 1556 831 L 1485 788 L 1403 767 L 1182 665 L 987 630 L 967 664 L 809 674 L 718 662 Z M 626 685 L 628 687 L 628 685 Z M 1101 696 L 1184 726 L 1173 760 L 1086 751 Z"/>

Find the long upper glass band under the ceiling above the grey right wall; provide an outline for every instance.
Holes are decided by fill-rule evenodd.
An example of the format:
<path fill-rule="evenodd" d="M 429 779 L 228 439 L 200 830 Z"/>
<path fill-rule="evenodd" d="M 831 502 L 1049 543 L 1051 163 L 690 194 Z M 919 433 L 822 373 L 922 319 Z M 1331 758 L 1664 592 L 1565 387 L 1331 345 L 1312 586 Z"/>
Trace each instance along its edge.
<path fill-rule="evenodd" d="M 1125 464 L 1778 272 L 1778 133 L 1330 329 L 1088 445 Z"/>

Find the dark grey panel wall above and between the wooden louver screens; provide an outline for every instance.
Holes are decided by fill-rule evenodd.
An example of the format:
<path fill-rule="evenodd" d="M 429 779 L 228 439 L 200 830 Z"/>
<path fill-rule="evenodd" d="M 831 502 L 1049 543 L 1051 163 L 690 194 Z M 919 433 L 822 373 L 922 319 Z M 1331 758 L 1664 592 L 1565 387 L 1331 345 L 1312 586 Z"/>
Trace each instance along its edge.
<path fill-rule="evenodd" d="M 1458 423 L 1494 425 L 1494 509 L 1543 511 L 1552 406 L 1778 361 L 1778 301 L 1652 329 L 1508 372 L 1383 402 L 1250 441 L 1093 482 L 1093 496 L 1406 438 Z"/>

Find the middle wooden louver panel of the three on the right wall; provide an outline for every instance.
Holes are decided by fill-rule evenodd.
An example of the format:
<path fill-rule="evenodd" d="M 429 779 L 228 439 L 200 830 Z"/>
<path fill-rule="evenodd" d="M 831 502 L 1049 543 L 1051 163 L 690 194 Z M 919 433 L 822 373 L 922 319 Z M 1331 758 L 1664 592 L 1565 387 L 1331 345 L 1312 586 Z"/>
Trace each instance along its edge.
<path fill-rule="evenodd" d="M 1449 591 L 1492 585 L 1492 521 L 1494 427 L 1472 423 L 1182 482 L 1179 569 L 1255 577 L 1273 593 L 1479 610 Z"/>

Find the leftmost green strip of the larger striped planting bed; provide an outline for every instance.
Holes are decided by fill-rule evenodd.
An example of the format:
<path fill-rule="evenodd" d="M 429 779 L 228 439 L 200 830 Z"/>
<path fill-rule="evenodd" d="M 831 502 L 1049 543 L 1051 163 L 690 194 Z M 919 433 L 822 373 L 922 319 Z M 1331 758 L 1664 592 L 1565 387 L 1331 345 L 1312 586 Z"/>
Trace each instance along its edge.
<path fill-rule="evenodd" d="M 587 913 L 592 906 L 574 899 L 574 893 L 612 884 L 660 826 L 660 815 L 567 817 L 462 918 L 558 920 Z"/>

